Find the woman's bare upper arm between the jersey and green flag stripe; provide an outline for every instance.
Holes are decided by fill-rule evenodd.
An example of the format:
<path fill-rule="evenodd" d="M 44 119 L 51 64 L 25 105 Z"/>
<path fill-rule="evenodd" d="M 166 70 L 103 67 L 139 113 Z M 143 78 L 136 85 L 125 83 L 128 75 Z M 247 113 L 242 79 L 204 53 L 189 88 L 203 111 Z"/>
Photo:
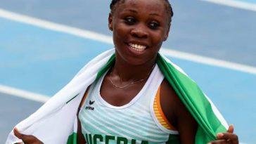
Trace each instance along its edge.
<path fill-rule="evenodd" d="M 160 103 L 168 121 L 179 131 L 181 143 L 193 144 L 198 124 L 166 80 L 161 84 Z"/>

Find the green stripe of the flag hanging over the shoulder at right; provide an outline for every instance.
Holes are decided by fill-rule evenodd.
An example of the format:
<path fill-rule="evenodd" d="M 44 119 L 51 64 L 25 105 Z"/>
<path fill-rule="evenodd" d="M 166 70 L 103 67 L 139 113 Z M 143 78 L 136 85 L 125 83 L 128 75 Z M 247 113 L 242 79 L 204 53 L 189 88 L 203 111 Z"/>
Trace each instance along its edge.
<path fill-rule="evenodd" d="M 215 140 L 217 133 L 226 131 L 213 112 L 210 102 L 192 79 L 179 72 L 172 64 L 167 63 L 160 54 L 158 54 L 157 63 L 165 79 L 169 81 L 182 103 L 198 122 L 196 143 Z"/>

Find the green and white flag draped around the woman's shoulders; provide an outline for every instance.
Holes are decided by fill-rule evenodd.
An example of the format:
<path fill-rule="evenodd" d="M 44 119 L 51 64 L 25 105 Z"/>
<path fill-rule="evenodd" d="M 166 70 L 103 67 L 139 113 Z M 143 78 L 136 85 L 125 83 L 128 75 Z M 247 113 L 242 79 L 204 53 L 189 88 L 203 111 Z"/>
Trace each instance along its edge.
<path fill-rule="evenodd" d="M 37 112 L 15 127 L 20 133 L 36 136 L 46 144 L 75 144 L 77 139 L 76 114 L 84 89 L 101 77 L 114 61 L 114 49 L 98 55 Z M 195 143 L 205 144 L 210 140 L 215 140 L 216 133 L 226 131 L 227 124 L 224 118 L 195 81 L 160 53 L 158 53 L 157 64 L 177 96 L 198 122 Z M 6 144 L 18 142 L 21 140 L 16 138 L 11 131 Z"/>

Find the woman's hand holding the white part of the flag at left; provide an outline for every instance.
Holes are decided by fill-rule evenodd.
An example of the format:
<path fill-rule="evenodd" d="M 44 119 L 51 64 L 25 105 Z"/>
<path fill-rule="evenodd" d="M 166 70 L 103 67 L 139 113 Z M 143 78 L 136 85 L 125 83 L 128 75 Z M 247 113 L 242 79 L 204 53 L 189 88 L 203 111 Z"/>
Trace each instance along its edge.
<path fill-rule="evenodd" d="M 23 143 L 25 144 L 44 144 L 35 136 L 25 135 L 23 133 L 20 133 L 16 128 L 13 129 L 13 133 L 15 136 L 17 136 L 17 138 L 20 138 L 21 140 L 23 140 Z M 18 143 L 18 144 L 21 144 L 21 143 Z"/>

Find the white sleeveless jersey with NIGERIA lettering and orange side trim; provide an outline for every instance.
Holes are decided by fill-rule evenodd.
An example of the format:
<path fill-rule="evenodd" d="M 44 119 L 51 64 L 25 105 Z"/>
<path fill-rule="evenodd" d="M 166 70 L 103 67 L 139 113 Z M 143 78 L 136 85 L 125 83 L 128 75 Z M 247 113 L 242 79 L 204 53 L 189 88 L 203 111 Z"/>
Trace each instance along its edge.
<path fill-rule="evenodd" d="M 103 77 L 91 85 L 79 111 L 88 144 L 179 143 L 178 132 L 167 122 L 160 107 L 160 84 L 164 76 L 158 65 L 141 91 L 120 107 L 101 98 Z"/>

